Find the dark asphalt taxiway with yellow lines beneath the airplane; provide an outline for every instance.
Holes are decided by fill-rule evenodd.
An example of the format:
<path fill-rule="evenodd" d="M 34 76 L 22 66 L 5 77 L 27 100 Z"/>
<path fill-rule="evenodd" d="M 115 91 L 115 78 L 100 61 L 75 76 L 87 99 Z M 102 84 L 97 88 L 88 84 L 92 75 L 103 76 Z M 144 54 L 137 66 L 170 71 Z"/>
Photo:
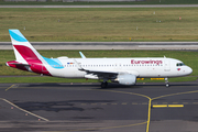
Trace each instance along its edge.
<path fill-rule="evenodd" d="M 169 88 L 110 84 L 108 89 L 99 84 L 0 84 L 0 131 L 145 132 L 148 123 L 150 132 L 193 132 L 198 130 L 197 94 L 197 81 L 170 82 Z"/>

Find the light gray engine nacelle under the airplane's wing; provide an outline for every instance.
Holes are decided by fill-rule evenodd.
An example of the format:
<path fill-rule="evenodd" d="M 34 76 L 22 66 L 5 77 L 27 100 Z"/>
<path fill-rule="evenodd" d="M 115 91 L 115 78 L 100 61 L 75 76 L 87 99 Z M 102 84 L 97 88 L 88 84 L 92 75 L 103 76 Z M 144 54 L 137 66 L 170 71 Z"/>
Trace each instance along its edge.
<path fill-rule="evenodd" d="M 121 75 L 118 75 L 117 80 L 121 85 L 135 85 L 136 76 L 130 75 L 130 74 L 121 74 Z"/>

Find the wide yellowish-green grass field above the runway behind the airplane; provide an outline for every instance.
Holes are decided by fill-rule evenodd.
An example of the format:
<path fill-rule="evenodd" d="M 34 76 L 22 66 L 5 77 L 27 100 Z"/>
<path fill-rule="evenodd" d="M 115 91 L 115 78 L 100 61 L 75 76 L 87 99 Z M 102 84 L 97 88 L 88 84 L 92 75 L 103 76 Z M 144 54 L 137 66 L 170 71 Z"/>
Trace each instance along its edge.
<path fill-rule="evenodd" d="M 0 9 L 0 41 L 8 29 L 31 42 L 198 41 L 197 21 L 198 8 Z"/>

